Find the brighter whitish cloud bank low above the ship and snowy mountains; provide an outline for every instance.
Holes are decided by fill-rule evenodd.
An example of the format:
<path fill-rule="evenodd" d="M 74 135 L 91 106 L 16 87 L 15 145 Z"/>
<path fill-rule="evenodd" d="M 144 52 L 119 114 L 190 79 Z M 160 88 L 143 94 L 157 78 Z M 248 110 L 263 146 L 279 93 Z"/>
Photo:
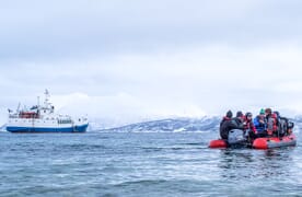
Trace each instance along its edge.
<path fill-rule="evenodd" d="M 200 117 L 229 108 L 283 108 L 301 101 L 300 54 L 301 48 L 290 44 L 252 49 L 212 45 L 26 62 L 1 69 L 1 92 L 9 93 L 1 101 L 5 107 L 28 97 L 35 103 L 47 88 L 62 113 L 123 123 Z"/>

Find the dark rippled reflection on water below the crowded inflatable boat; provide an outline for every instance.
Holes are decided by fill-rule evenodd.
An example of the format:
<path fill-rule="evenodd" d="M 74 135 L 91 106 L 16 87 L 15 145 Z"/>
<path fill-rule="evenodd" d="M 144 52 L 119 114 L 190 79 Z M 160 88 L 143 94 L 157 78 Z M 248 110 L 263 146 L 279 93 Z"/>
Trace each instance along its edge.
<path fill-rule="evenodd" d="M 220 152 L 219 167 L 222 178 L 276 178 L 288 173 L 291 149 L 253 150 L 225 149 Z"/>

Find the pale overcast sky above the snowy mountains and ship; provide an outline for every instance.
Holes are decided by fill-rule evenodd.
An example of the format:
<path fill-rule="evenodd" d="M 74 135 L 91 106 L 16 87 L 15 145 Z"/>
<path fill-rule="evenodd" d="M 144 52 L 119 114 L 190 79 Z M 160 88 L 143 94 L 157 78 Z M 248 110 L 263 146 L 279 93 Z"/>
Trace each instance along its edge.
<path fill-rule="evenodd" d="M 302 1 L 0 3 L 0 124 L 45 89 L 60 113 L 115 123 L 302 114 Z"/>

